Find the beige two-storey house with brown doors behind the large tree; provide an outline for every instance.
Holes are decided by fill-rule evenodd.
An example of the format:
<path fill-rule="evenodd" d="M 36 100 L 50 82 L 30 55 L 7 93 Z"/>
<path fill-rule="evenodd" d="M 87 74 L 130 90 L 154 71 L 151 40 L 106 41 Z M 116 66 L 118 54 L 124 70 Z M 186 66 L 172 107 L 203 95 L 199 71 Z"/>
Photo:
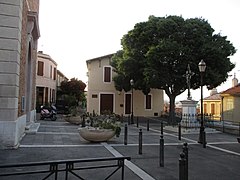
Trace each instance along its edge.
<path fill-rule="evenodd" d="M 146 96 L 139 90 L 118 92 L 112 77 L 115 72 L 110 65 L 113 54 L 87 60 L 88 92 L 87 111 L 100 114 L 110 110 L 116 114 L 134 116 L 158 116 L 163 111 L 163 91 L 152 89 Z M 130 83 L 130 82 L 129 82 Z M 132 103 L 133 98 L 133 103 Z"/>

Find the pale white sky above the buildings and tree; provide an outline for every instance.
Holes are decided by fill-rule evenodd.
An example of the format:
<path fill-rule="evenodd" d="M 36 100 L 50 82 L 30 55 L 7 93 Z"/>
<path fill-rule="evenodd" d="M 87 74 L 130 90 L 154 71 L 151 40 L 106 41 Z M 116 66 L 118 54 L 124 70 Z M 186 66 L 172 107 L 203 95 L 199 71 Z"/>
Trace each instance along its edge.
<path fill-rule="evenodd" d="M 218 92 L 232 86 L 234 73 L 240 80 L 239 0 L 40 0 L 38 50 L 50 55 L 69 79 L 75 77 L 87 84 L 86 60 L 120 50 L 123 35 L 150 15 L 207 20 L 215 34 L 227 36 L 237 49 L 230 57 L 236 67 L 217 87 Z M 203 92 L 204 97 L 210 94 L 205 87 Z M 200 89 L 191 90 L 191 95 L 198 101 Z M 176 101 L 186 98 L 185 91 Z"/>

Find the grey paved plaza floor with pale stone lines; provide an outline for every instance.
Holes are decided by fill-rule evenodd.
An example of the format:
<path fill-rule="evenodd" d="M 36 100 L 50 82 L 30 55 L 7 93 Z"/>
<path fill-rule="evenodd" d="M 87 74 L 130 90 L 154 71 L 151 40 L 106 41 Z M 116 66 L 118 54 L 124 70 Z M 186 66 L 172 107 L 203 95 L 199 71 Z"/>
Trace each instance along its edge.
<path fill-rule="evenodd" d="M 78 125 L 63 119 L 38 121 L 36 133 L 26 134 L 15 150 L 0 150 L 0 163 L 24 163 L 51 160 L 130 156 L 125 160 L 126 180 L 175 180 L 179 179 L 179 154 L 183 143 L 189 145 L 189 180 L 239 180 L 240 143 L 237 136 L 207 129 L 207 147 L 197 143 L 198 130 L 182 132 L 178 139 L 177 127 L 164 127 L 164 167 L 159 166 L 160 121 L 146 119 L 128 125 L 128 143 L 124 145 L 124 124 L 120 137 L 104 143 L 90 143 L 78 134 Z M 142 154 L 138 152 L 139 129 L 143 133 Z M 81 170 L 84 179 L 102 180 L 108 169 Z M 0 179 L 41 179 L 41 176 L 4 177 Z M 51 179 L 51 178 L 50 178 Z M 58 179 L 64 179 L 64 174 Z M 71 176 L 69 179 L 76 179 Z M 121 179 L 117 172 L 110 179 Z"/>

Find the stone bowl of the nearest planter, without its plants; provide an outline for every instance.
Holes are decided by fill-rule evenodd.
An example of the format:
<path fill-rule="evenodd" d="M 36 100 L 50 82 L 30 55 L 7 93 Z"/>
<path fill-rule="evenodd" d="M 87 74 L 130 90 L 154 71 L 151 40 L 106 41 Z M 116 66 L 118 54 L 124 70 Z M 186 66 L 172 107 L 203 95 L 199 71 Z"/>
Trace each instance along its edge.
<path fill-rule="evenodd" d="M 112 129 L 79 128 L 80 136 L 90 142 L 103 142 L 113 138 L 115 132 Z"/>

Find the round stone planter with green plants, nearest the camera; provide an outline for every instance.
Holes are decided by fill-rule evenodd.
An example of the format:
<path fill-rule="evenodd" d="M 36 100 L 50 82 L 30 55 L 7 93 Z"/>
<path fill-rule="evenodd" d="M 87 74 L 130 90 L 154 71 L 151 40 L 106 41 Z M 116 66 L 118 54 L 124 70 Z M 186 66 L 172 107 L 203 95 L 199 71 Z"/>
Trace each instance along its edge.
<path fill-rule="evenodd" d="M 86 127 L 79 128 L 82 138 L 91 142 L 108 141 L 121 132 L 120 116 L 104 112 L 102 115 L 86 114 Z"/>

